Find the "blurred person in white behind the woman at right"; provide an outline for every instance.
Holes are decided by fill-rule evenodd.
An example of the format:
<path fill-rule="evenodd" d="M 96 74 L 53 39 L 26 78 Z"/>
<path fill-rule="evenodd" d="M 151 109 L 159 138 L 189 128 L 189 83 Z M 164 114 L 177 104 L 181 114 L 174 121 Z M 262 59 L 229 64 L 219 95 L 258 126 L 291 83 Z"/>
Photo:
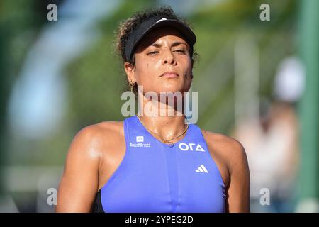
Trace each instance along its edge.
<path fill-rule="evenodd" d="M 245 146 L 250 164 L 252 212 L 293 212 L 299 159 L 295 104 L 303 83 L 301 63 L 286 58 L 274 79 L 273 101 L 260 101 L 259 118 L 235 128 L 234 137 Z M 265 204 L 266 192 L 269 202 Z"/>

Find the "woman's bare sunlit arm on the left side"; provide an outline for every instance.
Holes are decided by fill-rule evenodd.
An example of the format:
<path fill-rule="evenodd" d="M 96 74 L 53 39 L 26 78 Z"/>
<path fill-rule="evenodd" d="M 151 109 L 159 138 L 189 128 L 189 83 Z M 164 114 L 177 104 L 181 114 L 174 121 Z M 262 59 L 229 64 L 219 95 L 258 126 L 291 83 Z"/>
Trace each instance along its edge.
<path fill-rule="evenodd" d="M 90 212 L 99 187 L 99 137 L 96 126 L 79 131 L 72 141 L 57 192 L 56 212 Z"/>

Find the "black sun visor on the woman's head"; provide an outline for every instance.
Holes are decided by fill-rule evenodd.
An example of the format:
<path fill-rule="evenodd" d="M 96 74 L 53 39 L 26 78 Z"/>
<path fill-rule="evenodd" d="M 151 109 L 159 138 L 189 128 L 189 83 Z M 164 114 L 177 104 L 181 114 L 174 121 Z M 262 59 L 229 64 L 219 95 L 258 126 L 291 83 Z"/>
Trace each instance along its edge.
<path fill-rule="evenodd" d="M 162 16 L 155 16 L 150 18 L 147 21 L 144 21 L 136 28 L 130 37 L 128 38 L 128 42 L 125 45 L 125 57 L 129 62 L 132 60 L 133 53 L 135 52 L 135 48 L 140 43 L 145 35 L 150 33 L 155 28 L 168 26 L 175 28 L 186 38 L 186 42 L 189 44 L 190 54 L 193 55 L 193 45 L 196 42 L 196 36 L 191 31 L 191 28 L 186 26 L 185 23 L 181 21 L 177 21 L 174 19 L 163 18 Z"/>

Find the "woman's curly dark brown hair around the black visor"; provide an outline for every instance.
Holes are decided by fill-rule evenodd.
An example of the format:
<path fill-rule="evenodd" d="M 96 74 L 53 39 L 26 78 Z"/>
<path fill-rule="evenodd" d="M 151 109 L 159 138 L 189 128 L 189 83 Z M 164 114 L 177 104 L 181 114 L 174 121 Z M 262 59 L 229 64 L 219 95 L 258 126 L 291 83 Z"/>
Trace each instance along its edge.
<path fill-rule="evenodd" d="M 126 59 L 125 56 L 125 45 L 128 42 L 128 38 L 130 34 L 133 33 L 135 28 L 138 28 L 140 24 L 144 21 L 147 21 L 149 18 L 154 16 L 162 16 L 163 18 L 167 19 L 175 19 L 185 23 L 187 26 L 191 27 L 190 24 L 180 16 L 177 16 L 174 13 L 173 9 L 170 6 L 162 6 L 155 9 L 144 9 L 142 11 L 136 12 L 132 17 L 126 19 L 125 21 L 121 21 L 120 25 L 118 26 L 118 31 L 116 33 L 116 50 L 118 55 L 121 56 L 123 62 L 129 62 L 132 65 L 135 65 L 135 57 L 133 56 L 132 60 Z M 194 61 L 197 57 L 197 53 L 194 51 L 191 54 L 191 64 L 194 64 Z M 136 94 L 137 91 L 137 84 L 134 86 L 134 92 Z"/>

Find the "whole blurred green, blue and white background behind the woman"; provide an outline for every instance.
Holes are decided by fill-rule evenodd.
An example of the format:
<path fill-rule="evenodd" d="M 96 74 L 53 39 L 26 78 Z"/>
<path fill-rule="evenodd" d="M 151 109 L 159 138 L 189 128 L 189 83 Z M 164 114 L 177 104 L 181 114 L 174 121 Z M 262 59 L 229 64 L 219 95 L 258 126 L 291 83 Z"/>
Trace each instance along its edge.
<path fill-rule="evenodd" d="M 245 147 L 251 211 L 319 211 L 317 0 L 0 1 L 0 211 L 54 211 L 74 135 L 124 118 L 118 23 L 163 4 L 197 36 L 198 126 Z"/>

